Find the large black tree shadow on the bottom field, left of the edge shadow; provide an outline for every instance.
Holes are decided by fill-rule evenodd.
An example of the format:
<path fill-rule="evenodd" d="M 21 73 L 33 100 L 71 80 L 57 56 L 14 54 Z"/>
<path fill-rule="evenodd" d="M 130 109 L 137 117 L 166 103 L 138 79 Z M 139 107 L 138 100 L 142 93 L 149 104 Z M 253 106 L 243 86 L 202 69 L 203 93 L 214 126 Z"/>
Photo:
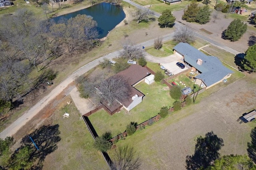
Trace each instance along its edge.
<path fill-rule="evenodd" d="M 194 155 L 186 156 L 187 170 L 206 169 L 219 158 L 218 151 L 222 146 L 224 146 L 223 139 L 218 138 L 214 132 L 206 133 L 204 138 L 198 137 Z"/>

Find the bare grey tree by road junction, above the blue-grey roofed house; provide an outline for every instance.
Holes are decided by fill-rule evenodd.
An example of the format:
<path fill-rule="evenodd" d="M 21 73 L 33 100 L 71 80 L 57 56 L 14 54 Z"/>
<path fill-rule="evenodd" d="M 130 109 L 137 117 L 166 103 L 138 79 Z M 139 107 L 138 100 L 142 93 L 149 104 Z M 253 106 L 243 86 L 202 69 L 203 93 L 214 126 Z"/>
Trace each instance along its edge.
<path fill-rule="evenodd" d="M 176 29 L 174 40 L 183 43 L 194 42 L 194 32 L 188 26 L 181 26 L 179 29 Z"/>

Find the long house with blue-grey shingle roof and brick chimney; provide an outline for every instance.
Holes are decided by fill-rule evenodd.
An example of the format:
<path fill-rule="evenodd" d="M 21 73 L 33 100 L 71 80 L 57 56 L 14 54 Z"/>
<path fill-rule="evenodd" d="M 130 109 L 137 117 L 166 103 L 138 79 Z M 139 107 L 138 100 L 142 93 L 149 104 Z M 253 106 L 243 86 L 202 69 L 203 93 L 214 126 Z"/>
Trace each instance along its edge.
<path fill-rule="evenodd" d="M 208 56 L 188 43 L 179 43 L 174 47 L 174 53 L 180 56 L 184 63 L 197 73 L 194 81 L 206 89 L 228 79 L 233 71 L 224 67 L 214 56 Z"/>

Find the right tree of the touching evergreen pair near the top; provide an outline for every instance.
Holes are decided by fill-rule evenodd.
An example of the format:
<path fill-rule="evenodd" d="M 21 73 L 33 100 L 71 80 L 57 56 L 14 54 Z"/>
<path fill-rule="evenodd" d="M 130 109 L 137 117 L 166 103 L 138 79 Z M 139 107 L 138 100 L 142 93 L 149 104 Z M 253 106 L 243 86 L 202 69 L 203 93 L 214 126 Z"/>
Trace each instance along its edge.
<path fill-rule="evenodd" d="M 208 5 L 205 5 L 203 8 L 200 8 L 196 15 L 196 22 L 198 22 L 199 24 L 206 24 L 211 19 L 211 13 L 212 12 L 210 11 L 210 7 Z"/>

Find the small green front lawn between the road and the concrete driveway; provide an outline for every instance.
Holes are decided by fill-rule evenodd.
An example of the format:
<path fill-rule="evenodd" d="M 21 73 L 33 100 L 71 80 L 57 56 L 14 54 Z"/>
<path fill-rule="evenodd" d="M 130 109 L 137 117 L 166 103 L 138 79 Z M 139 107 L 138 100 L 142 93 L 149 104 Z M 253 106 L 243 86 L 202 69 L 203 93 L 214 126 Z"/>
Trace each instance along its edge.
<path fill-rule="evenodd" d="M 173 54 L 173 47 L 177 45 L 174 41 L 164 42 L 162 47 L 156 50 L 153 46 L 147 47 L 146 52 L 155 57 L 167 57 Z"/>

